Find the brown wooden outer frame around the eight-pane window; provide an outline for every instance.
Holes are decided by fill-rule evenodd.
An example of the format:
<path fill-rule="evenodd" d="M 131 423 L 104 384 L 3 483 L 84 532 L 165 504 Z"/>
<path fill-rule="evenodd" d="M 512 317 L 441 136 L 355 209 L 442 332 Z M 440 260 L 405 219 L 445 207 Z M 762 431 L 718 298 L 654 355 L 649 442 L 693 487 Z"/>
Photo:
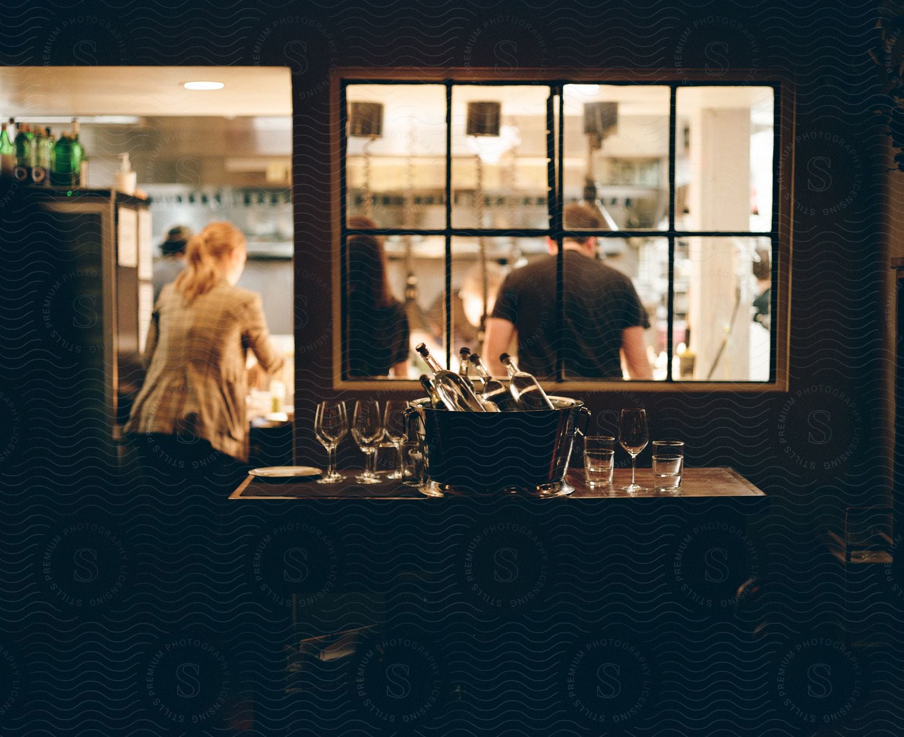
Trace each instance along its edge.
<path fill-rule="evenodd" d="M 773 252 L 773 285 L 772 294 L 773 325 L 771 331 L 770 362 L 774 380 L 772 381 L 694 381 L 694 380 L 588 380 L 588 379 L 544 379 L 544 384 L 554 385 L 556 393 L 564 392 L 667 392 L 673 394 L 700 394 L 711 392 L 758 394 L 762 392 L 788 391 L 788 375 L 790 360 L 790 305 L 791 305 L 791 253 L 792 232 L 794 214 L 794 125 L 795 125 L 795 86 L 790 79 L 781 72 L 752 70 L 734 70 L 720 75 L 714 80 L 705 70 L 660 70 L 651 78 L 648 70 L 632 69 L 594 69 L 594 70 L 559 70 L 559 69 L 531 69 L 516 70 L 512 74 L 506 74 L 501 78 L 499 74 L 489 68 L 371 68 L 371 67 L 342 67 L 336 68 L 330 77 L 330 215 L 331 215 L 331 264 L 332 264 L 332 325 L 333 325 L 333 387 L 337 390 L 355 391 L 399 391 L 411 393 L 420 391 L 417 380 L 397 378 L 344 378 L 343 376 L 343 234 L 344 234 L 344 141 L 342 126 L 345 120 L 344 88 L 349 84 L 441 84 L 447 86 L 447 96 L 450 94 L 449 85 L 454 84 L 479 84 L 489 83 L 517 85 L 539 83 L 555 86 L 558 84 L 594 83 L 606 84 L 644 84 L 661 85 L 671 88 L 671 105 L 669 112 L 669 230 L 637 231 L 636 235 L 648 238 L 669 239 L 669 324 L 672 324 L 672 298 L 673 298 L 673 257 L 674 240 L 676 238 L 692 238 L 706 236 L 706 231 L 687 231 L 679 234 L 674 229 L 674 159 L 675 159 L 675 99 L 676 90 L 683 87 L 772 87 L 775 94 L 774 130 L 775 145 L 773 147 L 774 176 L 772 195 L 772 223 L 773 227 L 768 233 L 758 231 L 712 231 L 714 237 L 738 236 L 743 238 L 757 238 L 770 236 L 774 239 Z M 561 97 L 560 97 L 561 100 Z M 561 105 L 560 105 L 561 109 Z M 447 121 L 448 122 L 448 121 Z M 561 128 L 560 128 L 561 129 Z M 552 134 L 550 134 L 552 135 Z M 451 136 L 451 130 L 447 130 L 447 142 Z M 447 152 L 451 155 L 451 150 Z M 447 167 L 447 187 L 451 177 L 451 170 Z M 560 185 L 561 186 L 561 185 Z M 453 229 L 448 210 L 451 209 L 450 198 L 447 198 L 447 228 L 449 230 L 477 230 L 477 229 Z M 555 207 L 560 212 L 561 203 Z M 550 228 L 553 228 L 551 222 Z M 396 229 L 380 229 L 381 231 L 394 231 Z M 506 229 L 517 230 L 517 229 Z M 559 227 L 558 231 L 561 230 Z M 618 231 L 619 235 L 625 233 L 634 234 L 633 231 Z M 488 235 L 494 235 L 489 229 Z M 599 233 L 598 235 L 604 235 Z M 446 232 L 447 249 L 448 238 Z M 561 249 L 560 249 L 561 254 Z M 450 278 L 447 253 L 447 283 Z M 447 295 L 448 299 L 448 295 Z M 448 318 L 447 318 L 448 319 Z M 667 341 L 670 348 L 673 340 L 672 331 L 669 331 Z M 448 352 L 448 351 L 447 351 Z M 671 377 L 671 370 L 669 372 Z"/>

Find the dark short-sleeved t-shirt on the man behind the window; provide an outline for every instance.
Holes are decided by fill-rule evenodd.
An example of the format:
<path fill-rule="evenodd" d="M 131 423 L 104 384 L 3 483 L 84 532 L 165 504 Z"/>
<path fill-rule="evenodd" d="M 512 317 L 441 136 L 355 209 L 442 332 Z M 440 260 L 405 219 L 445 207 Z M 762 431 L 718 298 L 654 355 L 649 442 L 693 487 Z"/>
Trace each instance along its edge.
<path fill-rule="evenodd" d="M 564 313 L 560 350 L 567 374 L 622 378 L 622 331 L 649 327 L 634 285 L 600 261 L 564 253 Z M 509 274 L 493 317 L 518 331 L 521 368 L 541 378 L 555 375 L 556 257 L 545 256 Z"/>

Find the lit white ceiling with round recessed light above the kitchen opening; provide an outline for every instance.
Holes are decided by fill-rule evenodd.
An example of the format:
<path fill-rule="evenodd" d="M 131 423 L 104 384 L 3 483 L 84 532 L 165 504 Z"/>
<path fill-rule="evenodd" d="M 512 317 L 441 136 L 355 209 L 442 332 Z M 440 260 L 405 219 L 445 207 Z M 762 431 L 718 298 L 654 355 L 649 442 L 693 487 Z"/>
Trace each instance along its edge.
<path fill-rule="evenodd" d="M 184 89 L 185 82 L 223 89 Z M 3 67 L 0 116 L 291 116 L 287 67 Z"/>

